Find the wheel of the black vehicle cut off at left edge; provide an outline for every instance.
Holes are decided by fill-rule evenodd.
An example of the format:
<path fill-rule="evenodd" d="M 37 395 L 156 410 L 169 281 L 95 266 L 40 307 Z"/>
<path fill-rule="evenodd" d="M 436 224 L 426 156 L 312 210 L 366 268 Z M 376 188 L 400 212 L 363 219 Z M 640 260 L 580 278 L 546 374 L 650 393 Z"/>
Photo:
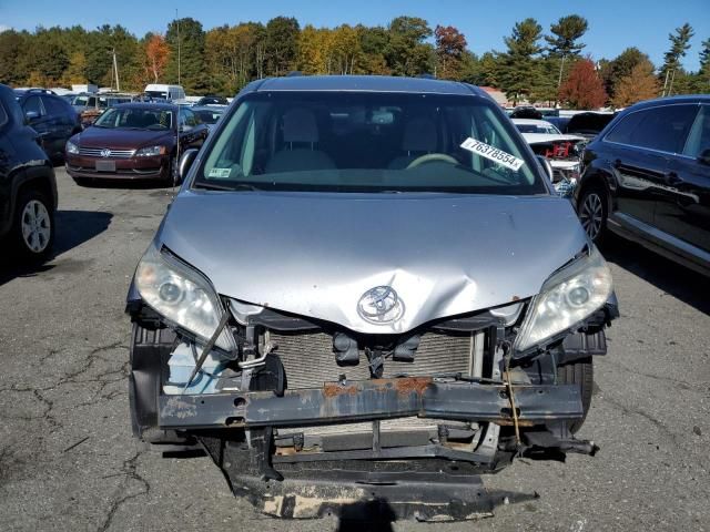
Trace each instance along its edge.
<path fill-rule="evenodd" d="M 54 243 L 54 212 L 43 193 L 20 193 L 12 233 L 21 259 L 39 263 L 47 258 Z"/>

